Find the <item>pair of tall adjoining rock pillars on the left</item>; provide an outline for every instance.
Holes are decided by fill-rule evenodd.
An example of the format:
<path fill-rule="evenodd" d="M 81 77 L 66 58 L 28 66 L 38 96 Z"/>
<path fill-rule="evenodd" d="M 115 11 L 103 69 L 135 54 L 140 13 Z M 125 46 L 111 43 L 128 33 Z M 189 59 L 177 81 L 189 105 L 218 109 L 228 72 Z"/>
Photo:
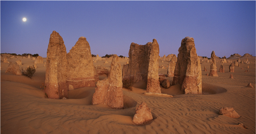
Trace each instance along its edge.
<path fill-rule="evenodd" d="M 85 37 L 80 37 L 69 53 L 59 33 L 53 31 L 47 49 L 45 92 L 48 98 L 68 97 L 69 87 L 95 87 L 98 81 L 91 50 Z"/>

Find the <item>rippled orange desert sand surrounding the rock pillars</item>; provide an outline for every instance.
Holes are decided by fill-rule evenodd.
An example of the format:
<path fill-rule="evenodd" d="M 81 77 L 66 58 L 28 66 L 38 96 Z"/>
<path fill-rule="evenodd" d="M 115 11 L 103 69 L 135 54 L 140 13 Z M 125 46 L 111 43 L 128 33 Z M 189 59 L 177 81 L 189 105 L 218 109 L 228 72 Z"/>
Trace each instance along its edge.
<path fill-rule="evenodd" d="M 95 87 L 70 90 L 68 99 L 46 98 L 40 88 L 45 82 L 44 64 L 37 64 L 32 78 L 13 75 L 5 73 L 9 65 L 3 63 L 6 56 L 9 55 L 1 55 L 1 134 L 255 134 L 256 131 L 256 90 L 246 87 L 248 83 L 255 87 L 255 57 L 248 58 L 250 64 L 239 63 L 240 67 L 235 67 L 232 73 L 233 79 L 228 69 L 231 63 L 223 63 L 225 72 L 217 71 L 219 77 L 213 77 L 205 75 L 210 73 L 211 63 L 201 61 L 203 95 L 185 95 L 178 84 L 168 89 L 160 86 L 161 93 L 173 95 L 173 98 L 144 95 L 147 85 L 141 81 L 134 84 L 132 91 L 123 89 L 124 109 L 111 109 L 104 104 L 92 105 Z M 35 61 L 21 56 L 7 59 L 12 63 L 20 59 L 22 65 L 19 66 L 23 69 Z M 110 69 L 112 58 L 106 61 L 109 63 L 104 64 L 105 58 L 102 58 L 93 64 Z M 128 60 L 119 61 L 123 67 Z M 159 58 L 159 66 L 166 67 L 159 68 L 159 73 L 167 75 L 168 64 Z M 221 64 L 218 59 L 217 70 Z M 207 71 L 203 71 L 204 66 Z M 99 76 L 100 80 L 104 78 L 106 75 Z M 132 118 L 143 101 L 151 109 L 153 120 L 138 126 L 132 123 Z M 232 107 L 241 117 L 219 115 L 222 107 Z"/>

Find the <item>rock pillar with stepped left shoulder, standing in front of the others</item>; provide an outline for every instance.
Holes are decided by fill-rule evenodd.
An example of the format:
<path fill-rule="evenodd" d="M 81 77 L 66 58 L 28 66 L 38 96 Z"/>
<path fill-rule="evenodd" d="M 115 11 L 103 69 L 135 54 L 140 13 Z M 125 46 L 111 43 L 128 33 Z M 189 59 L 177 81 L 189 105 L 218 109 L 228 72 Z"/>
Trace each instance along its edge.
<path fill-rule="evenodd" d="M 97 88 L 92 97 L 92 104 L 106 104 L 112 109 L 122 109 L 123 102 L 123 83 L 122 70 L 119 57 L 113 55 L 109 77 L 98 81 Z"/>

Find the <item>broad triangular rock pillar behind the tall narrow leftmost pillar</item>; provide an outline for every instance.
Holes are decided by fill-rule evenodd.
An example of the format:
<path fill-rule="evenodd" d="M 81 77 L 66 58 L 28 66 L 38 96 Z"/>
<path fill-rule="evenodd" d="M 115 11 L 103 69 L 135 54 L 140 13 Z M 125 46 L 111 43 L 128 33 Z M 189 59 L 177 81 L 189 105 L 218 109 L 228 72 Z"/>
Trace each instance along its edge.
<path fill-rule="evenodd" d="M 90 45 L 85 37 L 78 39 L 66 57 L 66 88 L 69 89 L 69 85 L 72 85 L 74 89 L 96 87 L 99 78 L 96 68 L 93 66 Z"/>

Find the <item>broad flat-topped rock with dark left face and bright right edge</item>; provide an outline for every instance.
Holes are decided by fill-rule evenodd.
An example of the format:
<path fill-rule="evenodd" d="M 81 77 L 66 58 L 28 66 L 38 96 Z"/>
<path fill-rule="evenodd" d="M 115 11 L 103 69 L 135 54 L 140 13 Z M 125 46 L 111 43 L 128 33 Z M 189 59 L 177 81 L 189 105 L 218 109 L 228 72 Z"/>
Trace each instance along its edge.
<path fill-rule="evenodd" d="M 159 45 L 156 39 L 146 45 L 131 43 L 127 76 L 133 75 L 134 82 L 147 83 L 147 92 L 161 93 L 158 81 Z M 124 76 L 126 77 L 126 76 Z"/>

